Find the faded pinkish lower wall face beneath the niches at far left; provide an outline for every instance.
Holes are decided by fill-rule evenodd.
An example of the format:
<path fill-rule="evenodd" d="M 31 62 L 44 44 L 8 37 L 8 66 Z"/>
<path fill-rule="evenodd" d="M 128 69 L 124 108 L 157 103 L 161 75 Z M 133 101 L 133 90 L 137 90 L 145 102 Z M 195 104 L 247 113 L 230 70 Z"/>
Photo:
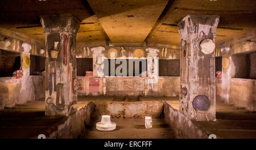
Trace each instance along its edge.
<path fill-rule="evenodd" d="M 26 80 L 26 84 L 22 84 Z M 0 78 L 0 109 L 12 108 L 15 104 L 44 98 L 44 76 L 27 76 L 26 79 L 15 77 Z"/>

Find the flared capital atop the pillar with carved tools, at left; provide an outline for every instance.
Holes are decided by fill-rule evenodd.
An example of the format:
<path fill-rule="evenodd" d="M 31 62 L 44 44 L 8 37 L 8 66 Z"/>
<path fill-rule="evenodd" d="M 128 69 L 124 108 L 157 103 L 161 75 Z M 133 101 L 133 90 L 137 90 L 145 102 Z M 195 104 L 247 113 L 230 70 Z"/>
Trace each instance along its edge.
<path fill-rule="evenodd" d="M 40 16 L 44 34 L 66 32 L 76 36 L 80 28 L 80 20 L 71 14 L 54 14 Z"/>

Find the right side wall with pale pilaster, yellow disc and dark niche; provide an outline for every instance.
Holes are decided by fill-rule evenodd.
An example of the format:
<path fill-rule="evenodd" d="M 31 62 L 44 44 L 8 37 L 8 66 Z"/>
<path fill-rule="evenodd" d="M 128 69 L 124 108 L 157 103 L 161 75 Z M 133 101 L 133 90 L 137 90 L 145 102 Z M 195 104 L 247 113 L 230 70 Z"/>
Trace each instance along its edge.
<path fill-rule="evenodd" d="M 218 45 L 222 78 L 216 80 L 217 101 L 256 110 L 255 41 L 256 31 L 252 31 Z"/>

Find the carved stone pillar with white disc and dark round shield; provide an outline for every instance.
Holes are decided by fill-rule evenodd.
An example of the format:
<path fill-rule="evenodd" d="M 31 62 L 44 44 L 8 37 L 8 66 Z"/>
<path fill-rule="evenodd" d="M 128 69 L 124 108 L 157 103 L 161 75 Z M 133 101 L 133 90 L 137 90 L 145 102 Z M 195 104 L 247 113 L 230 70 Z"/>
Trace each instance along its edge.
<path fill-rule="evenodd" d="M 219 16 L 187 15 L 179 24 L 181 38 L 180 111 L 196 121 L 214 121 L 214 48 Z"/>

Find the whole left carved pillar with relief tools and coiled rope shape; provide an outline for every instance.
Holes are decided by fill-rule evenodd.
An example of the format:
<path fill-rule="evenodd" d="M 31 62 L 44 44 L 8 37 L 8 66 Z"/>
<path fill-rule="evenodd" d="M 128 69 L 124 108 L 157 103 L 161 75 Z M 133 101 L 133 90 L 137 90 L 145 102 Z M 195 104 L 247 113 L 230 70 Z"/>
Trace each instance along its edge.
<path fill-rule="evenodd" d="M 77 102 L 76 37 L 80 21 L 70 14 L 42 16 L 46 36 L 46 115 L 68 116 Z"/>

